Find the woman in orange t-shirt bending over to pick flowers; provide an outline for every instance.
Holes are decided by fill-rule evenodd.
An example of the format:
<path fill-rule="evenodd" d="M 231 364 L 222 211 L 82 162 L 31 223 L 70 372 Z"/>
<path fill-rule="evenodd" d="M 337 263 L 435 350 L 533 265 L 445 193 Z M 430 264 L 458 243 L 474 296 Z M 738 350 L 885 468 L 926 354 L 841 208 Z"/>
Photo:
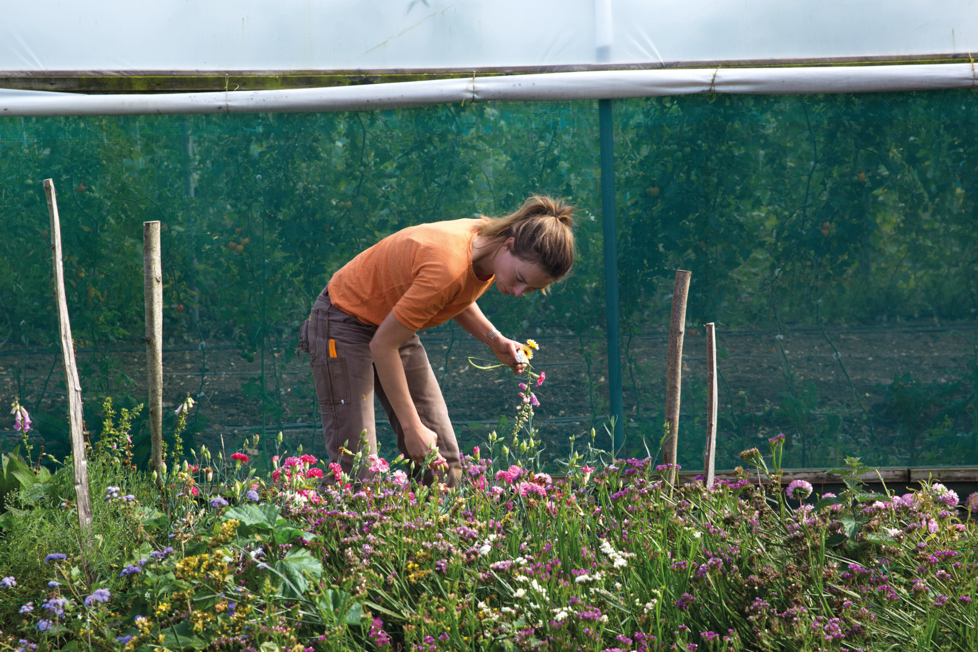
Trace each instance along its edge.
<path fill-rule="evenodd" d="M 518 374 L 519 343 L 504 337 L 475 300 L 490 285 L 512 296 L 544 289 L 574 260 L 573 208 L 531 196 L 507 217 L 409 227 L 362 252 L 333 274 L 302 326 L 300 348 L 312 357 L 326 450 L 347 473 L 362 431 L 377 452 L 377 392 L 397 446 L 425 471 L 461 476 L 459 445 L 417 331 L 454 319 Z"/>

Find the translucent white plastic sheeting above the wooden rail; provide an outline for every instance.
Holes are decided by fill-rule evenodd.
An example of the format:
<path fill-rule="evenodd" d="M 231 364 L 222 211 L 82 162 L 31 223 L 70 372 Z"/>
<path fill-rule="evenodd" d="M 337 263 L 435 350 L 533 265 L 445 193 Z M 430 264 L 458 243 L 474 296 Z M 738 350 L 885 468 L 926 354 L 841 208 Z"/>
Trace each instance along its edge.
<path fill-rule="evenodd" d="M 973 0 L 32 0 L 0 71 L 349 70 L 978 52 Z"/>

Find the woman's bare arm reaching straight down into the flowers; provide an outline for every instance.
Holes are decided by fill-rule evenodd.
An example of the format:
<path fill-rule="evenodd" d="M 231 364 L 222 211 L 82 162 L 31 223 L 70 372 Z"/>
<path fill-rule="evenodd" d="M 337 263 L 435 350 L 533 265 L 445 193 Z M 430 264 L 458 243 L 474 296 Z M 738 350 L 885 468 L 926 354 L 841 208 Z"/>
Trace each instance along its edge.
<path fill-rule="evenodd" d="M 414 330 L 394 319 L 394 313 L 391 312 L 374 333 L 370 351 L 374 355 L 374 366 L 377 368 L 380 385 L 404 429 L 404 445 L 411 458 L 421 464 L 431 447 L 437 450 L 438 435 L 425 426 L 418 415 L 418 409 L 411 400 L 408 378 L 404 374 L 404 365 L 398 351 L 414 334 Z M 431 466 L 432 469 L 447 468 L 448 462 L 439 454 Z"/>

